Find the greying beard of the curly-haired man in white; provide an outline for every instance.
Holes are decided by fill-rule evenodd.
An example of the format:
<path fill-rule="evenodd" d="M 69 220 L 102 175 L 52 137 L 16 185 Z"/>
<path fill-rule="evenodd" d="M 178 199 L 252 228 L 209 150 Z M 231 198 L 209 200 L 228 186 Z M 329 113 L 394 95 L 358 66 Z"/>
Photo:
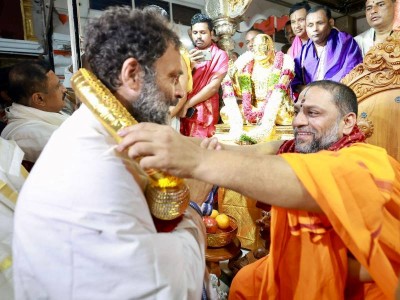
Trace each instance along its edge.
<path fill-rule="evenodd" d="M 169 98 L 160 90 L 154 74 L 147 74 L 143 78 L 143 87 L 139 98 L 131 102 L 130 113 L 139 123 L 169 124 L 169 107 L 176 103 L 176 99 Z"/>

